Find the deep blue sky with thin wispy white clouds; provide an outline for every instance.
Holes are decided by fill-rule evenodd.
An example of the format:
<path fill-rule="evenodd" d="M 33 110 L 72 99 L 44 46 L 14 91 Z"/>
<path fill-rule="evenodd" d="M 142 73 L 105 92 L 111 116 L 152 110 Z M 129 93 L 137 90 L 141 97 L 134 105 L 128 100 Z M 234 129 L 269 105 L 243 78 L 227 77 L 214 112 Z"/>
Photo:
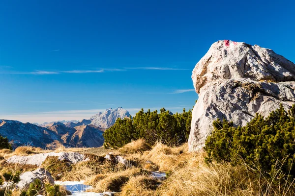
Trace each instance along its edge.
<path fill-rule="evenodd" d="M 294 10 L 291 0 L 1 0 L 0 119 L 192 108 L 191 72 L 215 41 L 294 62 Z"/>

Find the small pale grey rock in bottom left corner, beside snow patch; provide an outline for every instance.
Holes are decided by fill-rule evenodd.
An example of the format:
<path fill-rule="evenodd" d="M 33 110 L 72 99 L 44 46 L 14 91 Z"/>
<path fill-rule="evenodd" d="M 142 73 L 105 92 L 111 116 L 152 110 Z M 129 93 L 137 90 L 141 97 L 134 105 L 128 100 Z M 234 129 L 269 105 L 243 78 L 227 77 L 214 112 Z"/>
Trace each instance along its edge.
<path fill-rule="evenodd" d="M 20 178 L 20 181 L 16 184 L 16 187 L 20 190 L 27 190 L 29 188 L 29 184 L 34 182 L 36 179 L 39 179 L 43 184 L 47 182 L 54 184 L 54 179 L 50 172 L 43 168 L 39 168 L 33 172 L 22 173 Z"/>

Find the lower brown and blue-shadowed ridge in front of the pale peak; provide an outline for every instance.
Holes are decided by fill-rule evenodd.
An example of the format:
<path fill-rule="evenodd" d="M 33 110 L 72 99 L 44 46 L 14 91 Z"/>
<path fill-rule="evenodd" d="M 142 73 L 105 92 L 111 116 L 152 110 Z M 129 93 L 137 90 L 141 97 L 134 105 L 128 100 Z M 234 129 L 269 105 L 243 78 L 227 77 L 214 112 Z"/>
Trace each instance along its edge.
<path fill-rule="evenodd" d="M 104 142 L 102 134 L 101 130 L 91 125 L 70 128 L 56 123 L 50 127 L 41 127 L 31 123 L 0 120 L 0 135 L 7 137 L 13 147 L 100 147 Z"/>

